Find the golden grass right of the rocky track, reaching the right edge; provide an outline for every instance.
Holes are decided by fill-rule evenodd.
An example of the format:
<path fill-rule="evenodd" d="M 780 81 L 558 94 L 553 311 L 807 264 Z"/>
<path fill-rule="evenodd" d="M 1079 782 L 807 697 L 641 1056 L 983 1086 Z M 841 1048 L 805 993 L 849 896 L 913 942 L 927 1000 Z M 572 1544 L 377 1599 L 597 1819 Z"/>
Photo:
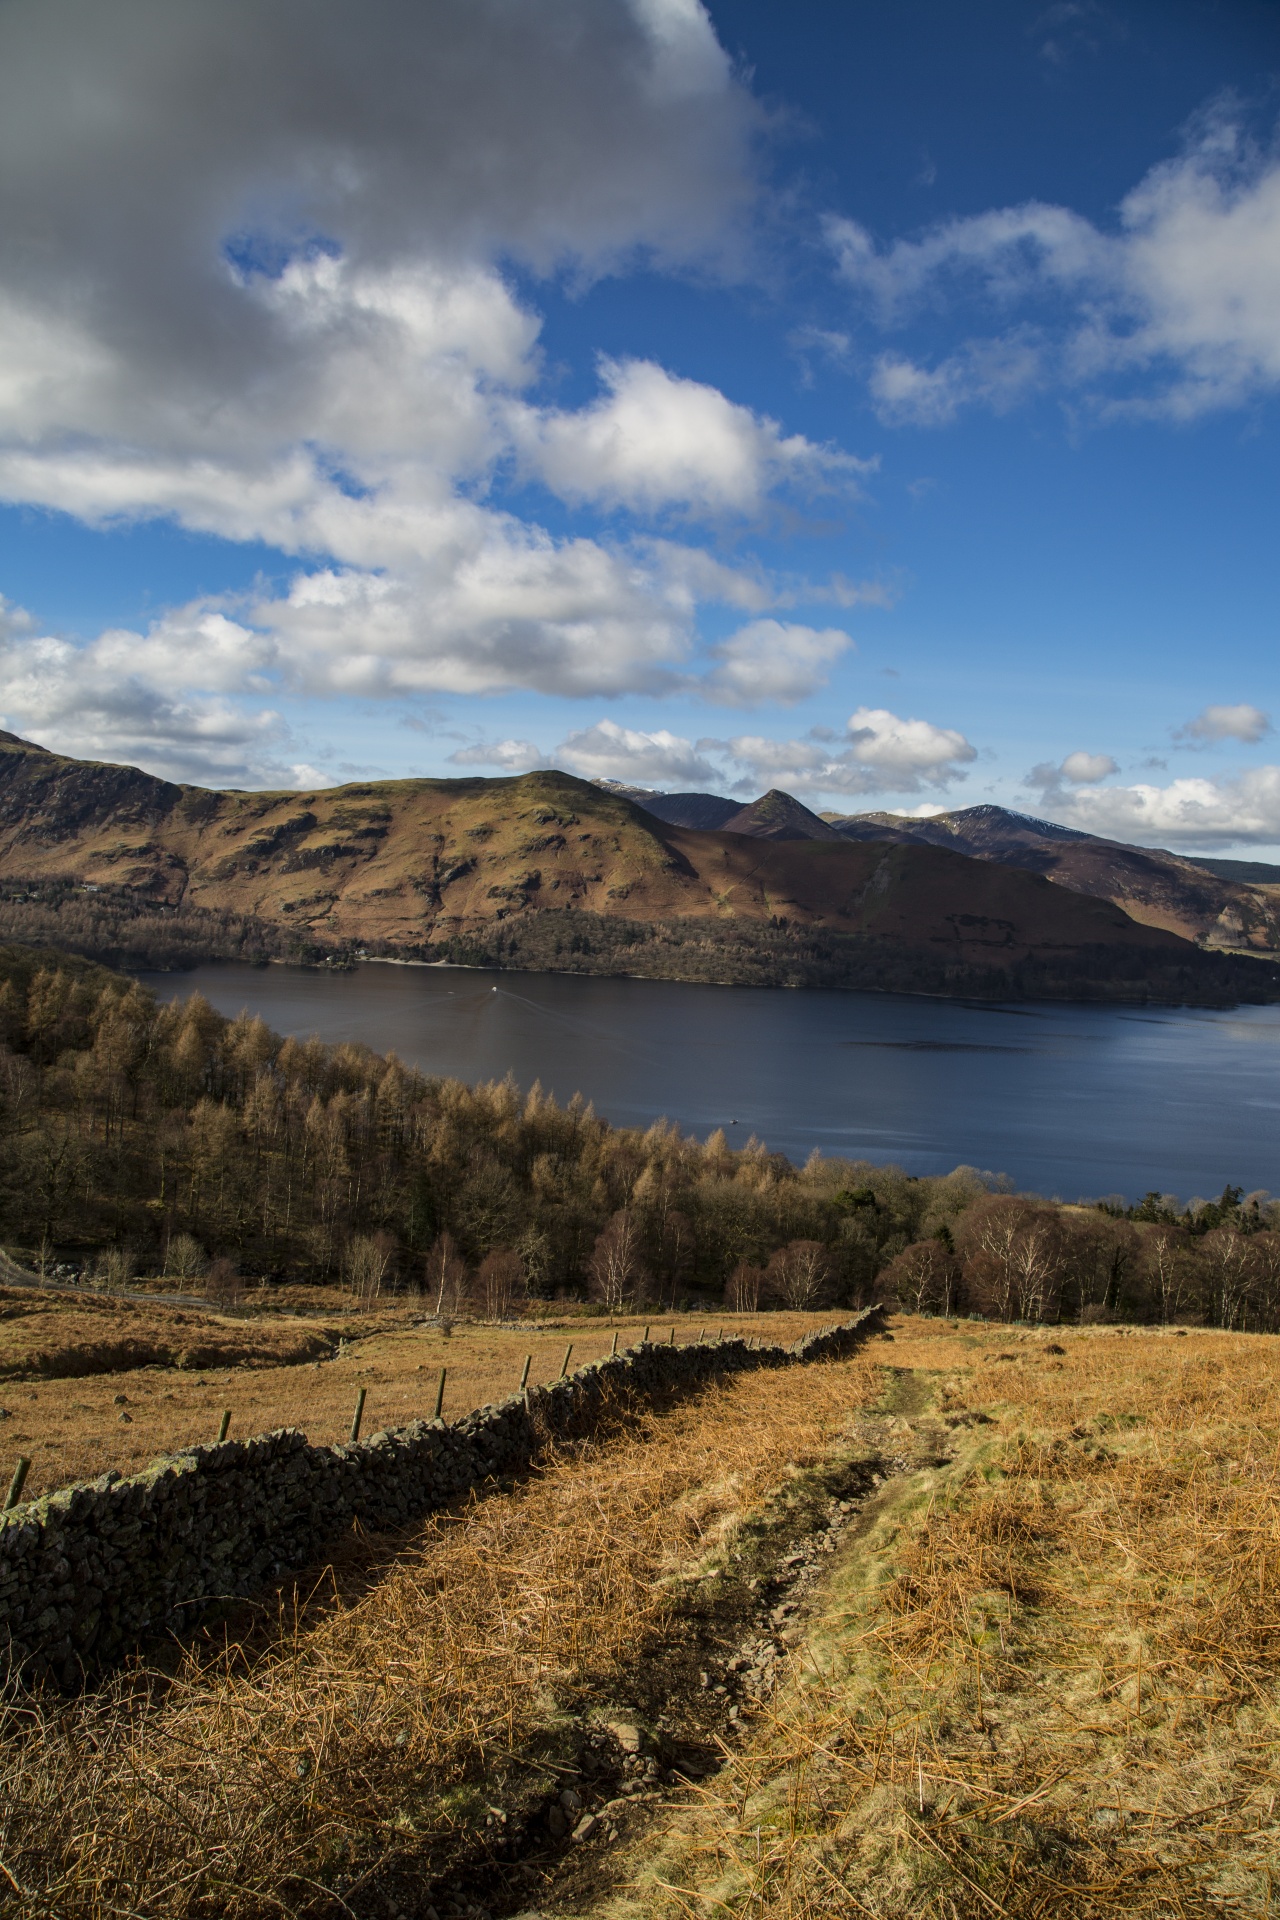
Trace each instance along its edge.
<path fill-rule="evenodd" d="M 791 1692 L 606 1910 L 1272 1912 L 1280 1342 L 894 1334 L 958 1457 L 887 1488 Z"/>

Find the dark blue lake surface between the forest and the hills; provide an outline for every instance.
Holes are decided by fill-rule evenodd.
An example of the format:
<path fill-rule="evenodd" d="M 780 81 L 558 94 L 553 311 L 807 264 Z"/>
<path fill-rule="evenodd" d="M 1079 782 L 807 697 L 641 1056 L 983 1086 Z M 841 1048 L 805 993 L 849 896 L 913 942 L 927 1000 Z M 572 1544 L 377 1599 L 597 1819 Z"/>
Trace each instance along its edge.
<path fill-rule="evenodd" d="M 278 1033 L 365 1041 L 426 1073 L 514 1073 L 618 1125 L 910 1173 L 967 1164 L 1075 1200 L 1280 1190 L 1280 1008 L 1019 1004 L 365 964 L 144 973 Z"/>

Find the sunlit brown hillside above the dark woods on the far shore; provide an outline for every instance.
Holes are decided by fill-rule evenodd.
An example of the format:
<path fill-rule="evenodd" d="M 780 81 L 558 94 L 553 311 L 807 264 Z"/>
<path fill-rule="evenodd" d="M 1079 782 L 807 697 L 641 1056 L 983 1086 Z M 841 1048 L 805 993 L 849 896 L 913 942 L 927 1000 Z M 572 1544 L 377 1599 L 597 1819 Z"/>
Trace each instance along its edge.
<path fill-rule="evenodd" d="M 1105 900 L 919 845 L 670 828 L 568 774 L 209 793 L 0 741 L 0 876 L 123 885 L 420 947 L 537 910 L 787 922 L 981 948 L 1169 945 Z"/>

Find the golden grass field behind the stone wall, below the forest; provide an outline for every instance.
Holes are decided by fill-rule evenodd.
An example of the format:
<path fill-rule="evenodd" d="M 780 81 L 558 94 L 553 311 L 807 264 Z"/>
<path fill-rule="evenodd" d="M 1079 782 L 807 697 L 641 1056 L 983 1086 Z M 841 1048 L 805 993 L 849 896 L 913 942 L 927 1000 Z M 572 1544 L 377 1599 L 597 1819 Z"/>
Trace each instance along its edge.
<path fill-rule="evenodd" d="M 13 1288 L 17 1292 L 17 1288 Z M 445 1338 L 436 1327 L 416 1327 L 420 1309 L 367 1309 L 345 1317 L 301 1325 L 297 1321 L 249 1321 L 188 1313 L 178 1308 L 134 1308 L 130 1302 L 94 1302 L 102 1313 L 92 1313 L 88 1332 L 81 1334 L 90 1302 L 69 1302 L 48 1308 L 40 1300 L 44 1321 L 54 1325 L 40 1334 L 46 1344 L 65 1340 L 63 1352 L 77 1352 L 77 1338 L 96 1338 L 106 1348 L 107 1325 L 117 1317 L 115 1338 L 129 1338 L 125 1329 L 144 1325 L 155 1342 L 188 1338 L 203 1350 L 217 1338 L 226 1338 L 230 1365 L 182 1367 L 142 1365 L 127 1373 L 96 1373 L 67 1379 L 12 1379 L 0 1386 L 0 1478 L 19 1453 L 31 1461 L 27 1478 L 29 1500 L 92 1480 L 107 1467 L 136 1473 L 159 1453 L 215 1440 L 223 1409 L 230 1411 L 230 1434 L 244 1440 L 274 1427 L 301 1427 L 317 1444 L 345 1440 L 351 1411 L 361 1386 L 367 1388 L 365 1432 L 380 1427 L 403 1427 L 407 1421 L 432 1415 L 436 1380 L 447 1369 L 445 1417 L 457 1419 L 472 1407 L 487 1405 L 512 1394 L 520 1384 L 524 1356 L 533 1356 L 532 1380 L 558 1375 L 564 1348 L 572 1342 L 570 1367 L 599 1359 L 610 1350 L 614 1331 L 618 1344 L 628 1346 L 645 1329 L 639 1317 L 616 1321 L 578 1319 L 568 1325 L 530 1321 L 518 1327 L 459 1325 Z M 831 1323 L 831 1313 L 760 1313 L 733 1315 L 723 1321 L 725 1332 L 756 1334 L 766 1342 L 791 1342 L 812 1327 Z M 177 1321 L 190 1327 L 177 1329 Z M 0 1340 L 21 1338 L 23 1321 L 0 1321 Z M 46 1321 L 48 1325 L 48 1321 Z M 714 1338 L 720 1321 L 706 1315 L 652 1315 L 652 1338 L 666 1340 L 676 1327 L 676 1340 L 697 1340 L 706 1329 Z M 274 1348 L 273 1348 L 273 1342 Z M 340 1346 L 342 1342 L 342 1346 Z M 301 1365 L 317 1346 L 338 1352 L 336 1359 Z M 29 1348 L 31 1350 L 31 1348 Z M 288 1356 L 286 1365 L 271 1365 L 273 1352 Z M 261 1356 L 261 1357 L 253 1357 Z M 67 1373 L 75 1375 L 67 1365 Z M 121 1398 L 123 1396 L 123 1398 Z M 127 1419 L 121 1419 L 127 1415 Z"/>

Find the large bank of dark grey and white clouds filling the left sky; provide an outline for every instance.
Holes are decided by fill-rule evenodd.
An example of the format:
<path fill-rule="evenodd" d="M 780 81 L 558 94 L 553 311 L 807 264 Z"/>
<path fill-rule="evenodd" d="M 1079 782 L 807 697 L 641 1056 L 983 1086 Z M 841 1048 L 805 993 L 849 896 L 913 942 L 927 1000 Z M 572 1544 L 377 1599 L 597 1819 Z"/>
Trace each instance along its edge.
<path fill-rule="evenodd" d="M 12 636 L 17 722 L 205 778 L 192 728 L 278 737 L 236 701 L 697 684 L 700 609 L 773 593 L 652 520 L 862 463 L 643 359 L 547 405 L 512 269 L 735 271 L 758 132 L 700 0 L 10 0 L 0 499 L 297 561 L 79 660 Z M 520 484 L 624 522 L 553 534 Z M 806 634 L 745 630 L 710 697 L 800 697 L 846 643 Z"/>

